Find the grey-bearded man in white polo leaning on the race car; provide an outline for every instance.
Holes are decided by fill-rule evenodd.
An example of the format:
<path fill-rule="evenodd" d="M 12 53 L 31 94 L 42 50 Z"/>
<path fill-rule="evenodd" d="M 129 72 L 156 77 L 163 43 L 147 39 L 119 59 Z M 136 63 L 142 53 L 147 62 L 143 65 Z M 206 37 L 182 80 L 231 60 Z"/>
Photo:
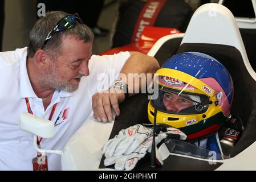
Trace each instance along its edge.
<path fill-rule="evenodd" d="M 99 94 L 113 89 L 108 88 L 120 73 L 155 73 L 159 68 L 155 58 L 137 52 L 91 56 L 93 40 L 77 14 L 52 11 L 35 23 L 29 47 L 0 52 L 0 170 L 33 170 L 36 165 L 32 134 L 19 129 L 22 112 L 54 122 L 55 136 L 38 138 L 38 145 L 62 150 L 92 106 L 98 121 L 113 119 L 112 109 L 120 114 L 118 104 L 127 96 L 123 87 Z M 47 168 L 59 170 L 60 156 L 48 155 Z"/>

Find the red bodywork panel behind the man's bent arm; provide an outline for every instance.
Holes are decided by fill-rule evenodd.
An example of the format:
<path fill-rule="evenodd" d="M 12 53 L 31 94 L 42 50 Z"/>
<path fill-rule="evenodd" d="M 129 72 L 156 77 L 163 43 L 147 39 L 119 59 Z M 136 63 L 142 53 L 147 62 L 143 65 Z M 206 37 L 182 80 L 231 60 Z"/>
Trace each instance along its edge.
<path fill-rule="evenodd" d="M 180 34 L 175 28 L 163 27 L 145 27 L 138 42 L 128 44 L 127 46 L 116 47 L 101 53 L 100 55 L 113 55 L 120 51 L 137 51 L 147 54 L 153 45 L 165 35 Z"/>

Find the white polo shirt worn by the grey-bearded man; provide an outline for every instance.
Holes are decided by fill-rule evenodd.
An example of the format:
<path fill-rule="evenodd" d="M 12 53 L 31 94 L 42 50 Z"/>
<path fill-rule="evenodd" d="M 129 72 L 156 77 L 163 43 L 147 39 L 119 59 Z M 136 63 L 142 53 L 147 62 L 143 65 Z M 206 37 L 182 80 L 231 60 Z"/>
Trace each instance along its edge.
<path fill-rule="evenodd" d="M 19 114 L 27 112 L 25 98 L 29 98 L 32 112 L 38 117 L 52 117 L 55 135 L 43 139 L 41 148 L 62 150 L 68 139 L 86 121 L 92 112 L 92 96 L 109 88 L 115 81 L 129 52 L 110 56 L 92 56 L 89 62 L 90 76 L 83 77 L 73 93 L 55 90 L 51 104 L 44 111 L 42 99 L 32 89 L 26 68 L 27 48 L 0 52 L 0 170 L 32 170 L 32 158 L 36 151 L 33 136 L 19 129 Z M 47 154 L 48 169 L 60 169 L 60 156 Z"/>

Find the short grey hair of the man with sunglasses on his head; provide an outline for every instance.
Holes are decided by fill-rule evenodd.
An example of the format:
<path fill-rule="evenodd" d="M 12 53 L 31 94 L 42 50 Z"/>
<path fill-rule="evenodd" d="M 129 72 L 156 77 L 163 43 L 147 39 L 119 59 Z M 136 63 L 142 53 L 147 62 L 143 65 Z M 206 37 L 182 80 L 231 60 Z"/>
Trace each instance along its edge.
<path fill-rule="evenodd" d="M 44 40 L 46 39 L 49 32 L 56 26 L 60 19 L 64 18 L 69 14 L 63 11 L 50 11 L 46 13 L 46 16 L 40 18 L 32 28 L 29 38 L 30 43 L 27 48 L 27 56 L 34 57 L 35 52 L 43 46 Z M 83 40 L 84 43 L 94 41 L 94 33 L 91 31 L 86 24 L 80 24 L 76 22 L 76 26 L 70 30 L 64 31 L 62 34 L 58 32 L 52 35 L 52 38 L 48 40 L 44 51 L 55 60 L 62 54 L 62 37 L 63 35 L 72 35 L 79 40 Z"/>

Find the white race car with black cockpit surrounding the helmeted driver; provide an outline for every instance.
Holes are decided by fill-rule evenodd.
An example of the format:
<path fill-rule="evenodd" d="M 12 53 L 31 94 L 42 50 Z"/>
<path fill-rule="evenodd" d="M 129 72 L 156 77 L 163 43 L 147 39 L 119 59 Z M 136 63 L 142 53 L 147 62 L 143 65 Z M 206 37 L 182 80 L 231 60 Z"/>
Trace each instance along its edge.
<path fill-rule="evenodd" d="M 172 140 L 166 144 L 170 155 L 165 158 L 164 166 L 156 169 L 256 169 L 254 165 L 250 165 L 253 164 L 252 159 L 246 160 L 246 155 L 253 154 L 256 148 L 256 135 L 254 132 L 256 127 L 256 73 L 253 68 L 251 68 L 247 58 L 241 34 L 233 14 L 231 14 L 226 7 L 218 5 L 217 3 L 202 5 L 192 16 L 185 34 L 168 35 L 161 38 L 155 46 L 153 46 L 151 51 L 149 51 L 148 55 L 155 56 L 156 59 L 159 60 L 160 65 L 162 65 L 165 60 L 176 53 L 187 51 L 206 53 L 221 61 L 228 69 L 234 82 L 234 100 L 231 107 L 231 114 L 241 118 L 244 130 L 241 138 L 234 147 L 229 148 L 229 154 L 225 154 L 231 158 L 225 159 L 224 157 L 223 160 L 217 160 L 217 165 L 209 164 L 209 158 L 206 158 L 204 155 L 207 154 L 207 152 L 202 151 L 201 148 L 194 148 L 195 146 L 191 146 L 191 144 Z M 78 134 L 74 135 L 63 150 L 62 168 L 105 169 L 100 150 L 104 143 L 107 142 L 108 138 L 103 141 L 102 136 L 107 137 L 110 135 L 109 138 L 113 138 L 121 129 L 125 129 L 137 123 L 147 122 L 147 97 L 147 94 L 138 94 L 121 104 L 121 114 L 119 117 L 115 118 L 114 123 L 108 123 L 107 125 L 105 124 L 105 126 L 100 126 L 103 125 L 100 123 L 92 124 L 93 121 L 84 123 L 82 128 L 78 131 Z M 79 143 L 79 137 L 81 138 L 82 133 L 87 133 L 90 128 L 94 129 L 95 132 L 97 128 L 100 130 L 100 127 L 104 127 L 104 132 L 101 133 L 101 139 L 97 140 L 94 138 L 94 142 L 89 142 L 91 145 L 94 143 L 94 149 L 96 149 L 96 146 L 99 144 L 96 150 L 97 152 L 92 152 L 90 146 L 87 146 L 84 141 L 89 135 L 96 137 L 96 134 L 92 134 L 91 131 L 86 137 L 82 137 L 83 142 L 81 140 Z M 108 131 L 107 133 L 106 127 L 112 131 Z M 189 150 L 190 152 L 188 152 Z M 94 157 L 88 159 L 88 155 L 86 155 L 86 159 L 82 160 L 81 156 L 74 156 L 82 153 L 84 155 L 84 152 L 88 152 L 88 154 Z M 96 153 L 98 154 L 97 156 L 95 155 Z M 137 164 L 135 169 L 150 169 L 148 161 L 146 155 L 146 157 Z M 90 163 L 90 165 L 88 163 Z M 236 165 L 236 163 L 239 163 L 239 165 Z"/>

